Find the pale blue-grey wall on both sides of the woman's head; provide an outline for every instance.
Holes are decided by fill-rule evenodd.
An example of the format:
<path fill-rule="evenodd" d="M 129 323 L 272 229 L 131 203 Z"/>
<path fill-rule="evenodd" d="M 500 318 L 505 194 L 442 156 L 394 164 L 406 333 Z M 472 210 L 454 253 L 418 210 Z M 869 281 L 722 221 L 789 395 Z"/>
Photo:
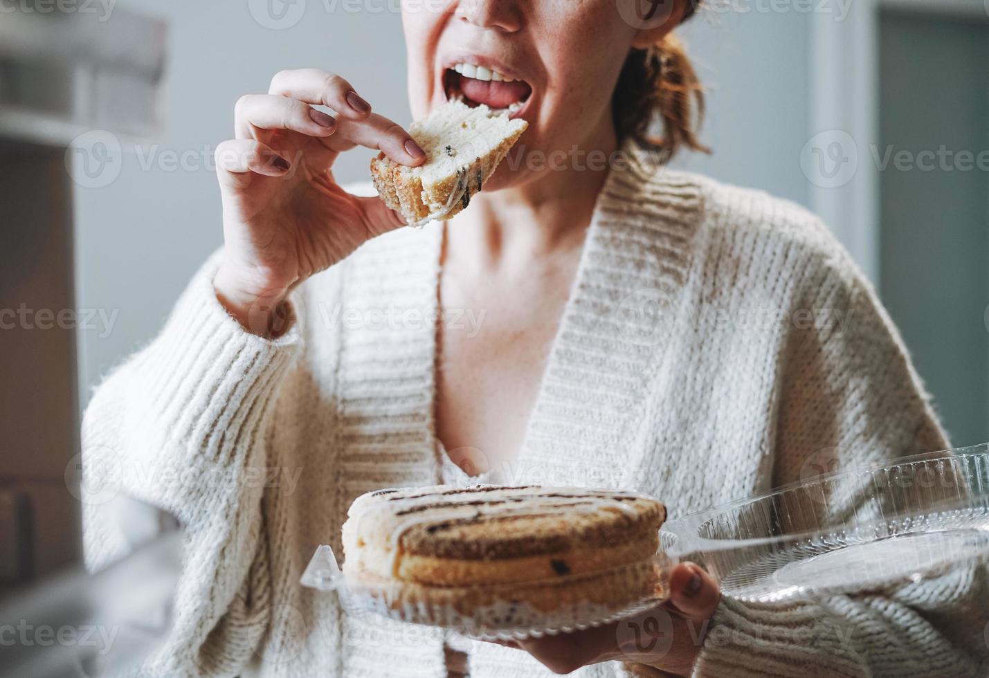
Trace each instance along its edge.
<path fill-rule="evenodd" d="M 221 244 L 219 191 L 208 163 L 216 144 L 232 135 L 240 95 L 267 91 L 279 69 L 319 67 L 346 75 L 384 115 L 404 124 L 409 118 L 401 18 L 387 9 L 348 13 L 353 5 L 343 0 L 297 0 L 285 5 L 283 21 L 298 23 L 278 30 L 262 25 L 278 24 L 264 16 L 266 0 L 119 6 L 170 23 L 166 132 L 158 144 L 126 153 L 109 186 L 76 187 L 78 305 L 113 319 L 80 331 L 83 405 L 102 375 L 154 336 L 199 263 Z M 302 15 L 291 14 L 302 7 Z M 678 166 L 806 204 L 798 158 L 808 137 L 808 24 L 807 14 L 793 11 L 708 11 L 684 27 L 709 88 L 703 138 L 714 153 L 681 158 Z M 370 157 L 345 154 L 338 178 L 365 179 Z"/>

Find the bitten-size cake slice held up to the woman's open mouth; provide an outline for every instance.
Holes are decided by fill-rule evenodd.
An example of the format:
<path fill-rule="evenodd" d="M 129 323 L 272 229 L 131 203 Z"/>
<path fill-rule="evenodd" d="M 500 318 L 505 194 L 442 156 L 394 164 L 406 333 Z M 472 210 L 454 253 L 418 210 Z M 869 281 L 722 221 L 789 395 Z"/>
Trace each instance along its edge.
<path fill-rule="evenodd" d="M 526 127 L 507 112 L 453 99 L 408 128 L 425 163 L 407 167 L 382 153 L 371 160 L 371 178 L 385 204 L 409 225 L 448 219 L 467 207 Z"/>

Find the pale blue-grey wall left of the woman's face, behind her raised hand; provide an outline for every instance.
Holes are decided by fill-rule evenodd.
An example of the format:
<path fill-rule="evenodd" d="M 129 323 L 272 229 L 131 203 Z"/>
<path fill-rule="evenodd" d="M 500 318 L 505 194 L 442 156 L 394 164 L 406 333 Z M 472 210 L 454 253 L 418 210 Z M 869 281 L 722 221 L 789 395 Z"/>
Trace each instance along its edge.
<path fill-rule="evenodd" d="M 83 406 L 102 376 L 154 336 L 190 276 L 222 244 L 213 149 L 233 136 L 241 95 L 266 93 L 283 68 L 324 68 L 345 74 L 383 115 L 408 120 L 400 16 L 347 13 L 343 2 L 333 13 L 321 0 L 306 4 L 298 24 L 275 30 L 255 19 L 265 21 L 258 9 L 265 5 L 253 1 L 118 3 L 169 23 L 166 130 L 139 153 L 125 143 L 132 152 L 109 186 L 75 187 L 78 305 L 113 318 L 79 333 Z M 370 158 L 363 149 L 344 154 L 337 176 L 366 179 Z"/>

